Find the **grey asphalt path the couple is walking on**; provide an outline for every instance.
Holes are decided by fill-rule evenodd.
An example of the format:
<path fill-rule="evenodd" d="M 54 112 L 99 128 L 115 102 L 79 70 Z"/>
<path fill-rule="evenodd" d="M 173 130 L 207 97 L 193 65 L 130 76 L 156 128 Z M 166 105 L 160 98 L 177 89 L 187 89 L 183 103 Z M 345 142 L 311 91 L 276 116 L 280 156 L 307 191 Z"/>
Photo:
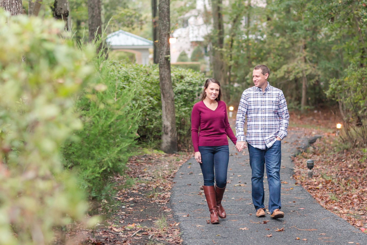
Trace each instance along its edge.
<path fill-rule="evenodd" d="M 286 182 L 281 184 L 283 219 L 270 219 L 269 214 L 262 218 L 255 216 L 247 149 L 237 153 L 233 143 L 229 142 L 227 180 L 230 183 L 227 184 L 222 202 L 227 218 L 220 219 L 220 224 L 206 222 L 209 220 L 209 210 L 204 192 L 200 190 L 203 176 L 199 163 L 194 158 L 184 163 L 174 179 L 176 184 L 171 195 L 174 219 L 180 222 L 183 244 L 367 244 L 365 234 L 358 233 L 357 228 L 321 207 L 307 191 L 294 184 L 290 156 L 297 152 L 296 147 L 304 146 L 305 142 L 308 143 L 300 132 L 292 130 L 288 130 L 288 137 L 282 141 L 280 179 Z M 264 181 L 267 207 L 269 189 L 266 177 Z M 243 186 L 234 186 L 236 184 Z M 262 224 L 264 220 L 269 222 Z M 244 227 L 248 230 L 240 230 Z M 282 227 L 284 232 L 275 231 Z M 321 233 L 325 235 L 319 235 Z M 272 237 L 266 237 L 270 234 Z M 295 240 L 296 237 L 299 240 Z"/>

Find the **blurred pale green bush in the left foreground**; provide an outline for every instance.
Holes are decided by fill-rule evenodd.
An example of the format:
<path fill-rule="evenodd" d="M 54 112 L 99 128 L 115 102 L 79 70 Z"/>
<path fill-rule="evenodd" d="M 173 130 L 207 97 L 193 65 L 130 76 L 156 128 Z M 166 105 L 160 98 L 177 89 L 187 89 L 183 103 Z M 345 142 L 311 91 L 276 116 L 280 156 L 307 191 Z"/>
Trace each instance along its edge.
<path fill-rule="evenodd" d="M 95 49 L 73 48 L 63 28 L 0 8 L 0 244 L 50 244 L 88 209 L 59 148 L 81 127 L 73 101 Z"/>

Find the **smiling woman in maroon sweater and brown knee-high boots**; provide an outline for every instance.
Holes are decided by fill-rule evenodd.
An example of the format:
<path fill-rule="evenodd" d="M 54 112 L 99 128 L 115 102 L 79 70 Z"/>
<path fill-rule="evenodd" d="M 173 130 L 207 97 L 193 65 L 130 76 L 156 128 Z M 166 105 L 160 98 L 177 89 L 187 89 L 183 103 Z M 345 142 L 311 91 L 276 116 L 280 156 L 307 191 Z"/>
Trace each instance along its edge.
<path fill-rule="evenodd" d="M 221 84 L 218 80 L 207 79 L 201 101 L 194 105 L 191 113 L 192 144 L 195 149 L 195 160 L 200 163 L 204 177 L 203 190 L 210 211 L 211 224 L 219 223 L 218 216 L 222 219 L 226 217 L 221 202 L 227 184 L 229 160 L 227 136 L 233 144 L 237 141 L 228 123 L 226 103 L 221 101 L 221 97 Z"/>

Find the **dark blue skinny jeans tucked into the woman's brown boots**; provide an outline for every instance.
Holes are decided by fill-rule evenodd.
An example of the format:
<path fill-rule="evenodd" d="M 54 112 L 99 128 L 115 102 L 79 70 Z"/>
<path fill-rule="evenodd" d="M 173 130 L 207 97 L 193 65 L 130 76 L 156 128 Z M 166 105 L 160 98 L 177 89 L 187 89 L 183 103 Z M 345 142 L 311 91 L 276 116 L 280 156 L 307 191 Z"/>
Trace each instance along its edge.
<path fill-rule="evenodd" d="M 201 154 L 201 172 L 204 185 L 214 185 L 214 179 L 219 188 L 224 188 L 227 183 L 227 169 L 229 161 L 228 145 L 199 146 Z M 214 171 L 215 170 L 215 171 Z"/>

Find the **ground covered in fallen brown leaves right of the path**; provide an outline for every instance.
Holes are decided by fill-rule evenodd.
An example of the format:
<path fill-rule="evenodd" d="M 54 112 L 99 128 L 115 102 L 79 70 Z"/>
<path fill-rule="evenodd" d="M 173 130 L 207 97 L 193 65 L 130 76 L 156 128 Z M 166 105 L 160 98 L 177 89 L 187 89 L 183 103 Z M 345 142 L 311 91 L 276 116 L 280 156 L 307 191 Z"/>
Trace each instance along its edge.
<path fill-rule="evenodd" d="M 304 130 L 305 134 L 315 131 Z M 362 230 L 367 227 L 367 153 L 363 149 L 337 152 L 335 134 L 322 134 L 308 152 L 293 158 L 293 177 L 321 206 Z M 308 159 L 315 161 L 312 179 L 307 177 Z"/>

